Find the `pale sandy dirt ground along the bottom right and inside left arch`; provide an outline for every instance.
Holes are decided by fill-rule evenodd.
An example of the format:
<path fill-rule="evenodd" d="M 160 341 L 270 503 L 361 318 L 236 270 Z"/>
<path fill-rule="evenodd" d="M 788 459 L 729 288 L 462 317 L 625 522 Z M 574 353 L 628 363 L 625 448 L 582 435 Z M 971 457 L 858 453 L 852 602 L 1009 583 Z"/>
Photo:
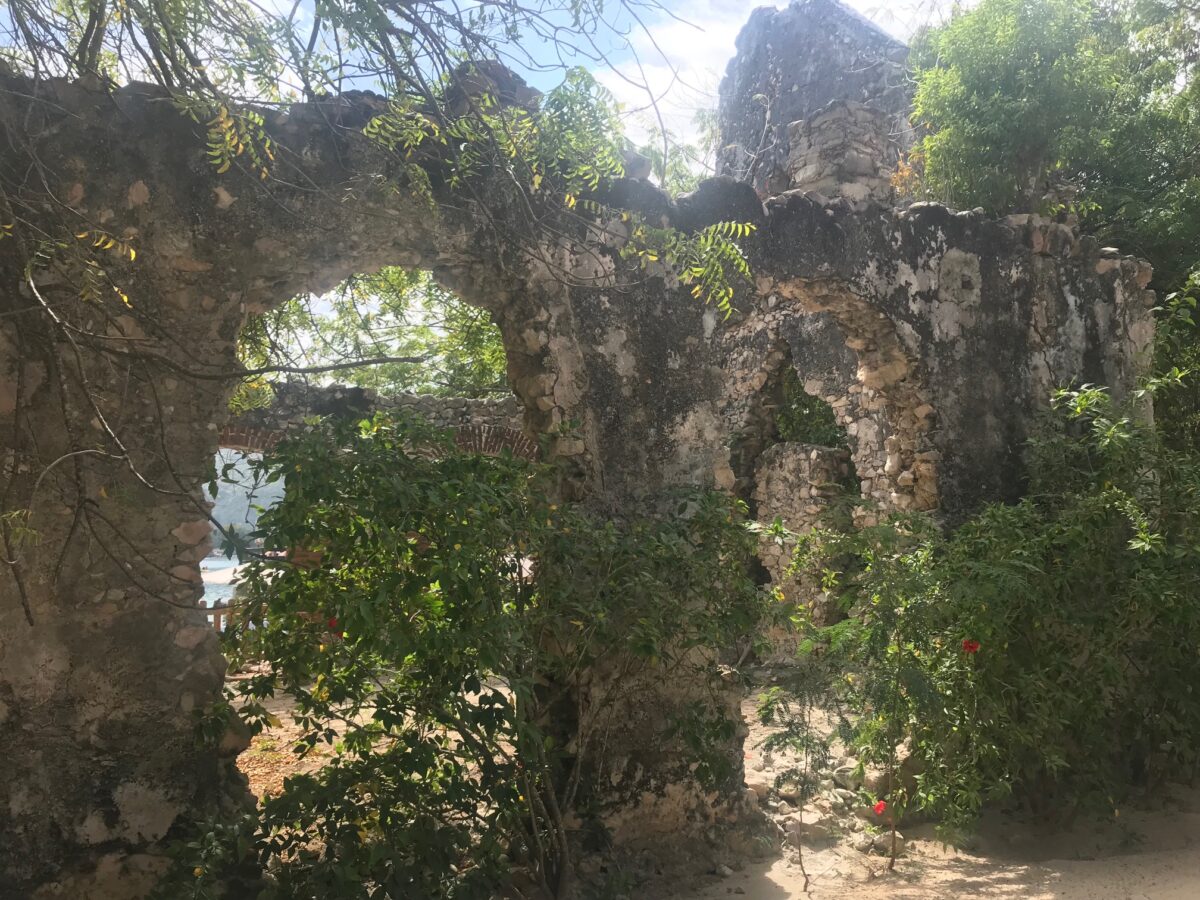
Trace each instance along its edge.
<path fill-rule="evenodd" d="M 293 773 L 311 772 L 323 756 L 298 760 L 287 704 L 272 712 L 282 726 L 254 738 L 239 757 L 251 790 L 277 792 Z M 754 700 L 744 712 L 754 721 Z M 748 761 L 763 737 L 752 726 Z M 929 826 L 906 828 L 907 850 L 894 872 L 887 859 L 853 850 L 845 838 L 805 840 L 804 870 L 794 847 L 763 862 L 733 862 L 722 871 L 697 874 L 670 889 L 634 888 L 629 900 L 1200 900 L 1200 788 L 1172 786 L 1157 809 L 1127 810 L 1111 823 L 1080 822 L 1069 832 L 1045 833 L 1003 816 L 988 818 L 968 847 L 943 845 Z"/>

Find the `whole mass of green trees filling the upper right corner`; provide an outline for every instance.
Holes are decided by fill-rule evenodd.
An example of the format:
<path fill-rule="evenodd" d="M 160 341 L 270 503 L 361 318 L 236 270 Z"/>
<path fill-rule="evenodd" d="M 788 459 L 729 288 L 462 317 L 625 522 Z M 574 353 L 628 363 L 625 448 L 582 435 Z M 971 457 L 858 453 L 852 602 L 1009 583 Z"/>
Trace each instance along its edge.
<path fill-rule="evenodd" d="M 960 208 L 1056 212 L 1176 289 L 1200 238 L 1196 23 L 1186 7 L 984 0 L 914 48 L 920 187 Z M 1061 202 L 1061 200 L 1060 200 Z"/>

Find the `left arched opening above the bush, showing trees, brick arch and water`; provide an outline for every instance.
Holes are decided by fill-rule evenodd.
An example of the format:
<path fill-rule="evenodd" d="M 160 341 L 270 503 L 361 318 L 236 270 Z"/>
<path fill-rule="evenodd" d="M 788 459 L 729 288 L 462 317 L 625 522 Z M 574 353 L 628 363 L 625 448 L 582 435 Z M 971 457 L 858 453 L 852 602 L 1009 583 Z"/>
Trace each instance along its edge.
<path fill-rule="evenodd" d="M 263 482 L 254 463 L 312 416 L 413 416 L 450 431 L 468 452 L 538 456 L 492 314 L 428 270 L 388 266 L 295 296 L 250 319 L 240 354 L 250 365 L 292 371 L 278 380 L 247 378 L 230 400 L 234 414 L 205 490 L 216 533 L 200 562 L 204 607 L 232 604 L 245 551 L 256 548 L 258 515 L 283 493 L 282 482 Z M 223 630 L 222 613 L 208 619 Z"/>

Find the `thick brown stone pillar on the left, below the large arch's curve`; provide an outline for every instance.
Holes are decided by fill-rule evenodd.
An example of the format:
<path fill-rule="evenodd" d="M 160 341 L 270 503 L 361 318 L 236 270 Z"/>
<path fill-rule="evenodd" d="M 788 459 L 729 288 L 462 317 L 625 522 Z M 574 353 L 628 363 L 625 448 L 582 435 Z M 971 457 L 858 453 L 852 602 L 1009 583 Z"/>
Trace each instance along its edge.
<path fill-rule="evenodd" d="M 77 366 L 64 346 L 42 355 L 29 324 L 0 331 L 20 395 L 0 416 L 5 497 L 29 510 L 8 520 L 0 571 L 0 871 L 13 896 L 139 898 L 180 817 L 242 790 L 240 737 L 197 739 L 224 674 L 197 563 L 226 394 L 154 366 Z"/>

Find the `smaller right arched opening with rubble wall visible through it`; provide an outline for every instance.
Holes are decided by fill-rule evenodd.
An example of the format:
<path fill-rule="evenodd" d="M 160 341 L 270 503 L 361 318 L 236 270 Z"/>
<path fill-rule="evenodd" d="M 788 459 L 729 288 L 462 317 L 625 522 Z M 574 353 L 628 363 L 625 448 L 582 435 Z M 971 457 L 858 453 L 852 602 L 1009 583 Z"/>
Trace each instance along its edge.
<path fill-rule="evenodd" d="M 932 407 L 888 323 L 845 290 L 788 284 L 731 340 L 734 490 L 768 527 L 756 576 L 814 619 L 840 617 L 820 583 L 790 572 L 792 535 L 868 524 L 936 504 L 928 430 Z M 766 350 L 766 352 L 764 352 Z M 770 530 L 779 522 L 784 532 Z M 772 662 L 794 638 L 767 635 Z"/>

